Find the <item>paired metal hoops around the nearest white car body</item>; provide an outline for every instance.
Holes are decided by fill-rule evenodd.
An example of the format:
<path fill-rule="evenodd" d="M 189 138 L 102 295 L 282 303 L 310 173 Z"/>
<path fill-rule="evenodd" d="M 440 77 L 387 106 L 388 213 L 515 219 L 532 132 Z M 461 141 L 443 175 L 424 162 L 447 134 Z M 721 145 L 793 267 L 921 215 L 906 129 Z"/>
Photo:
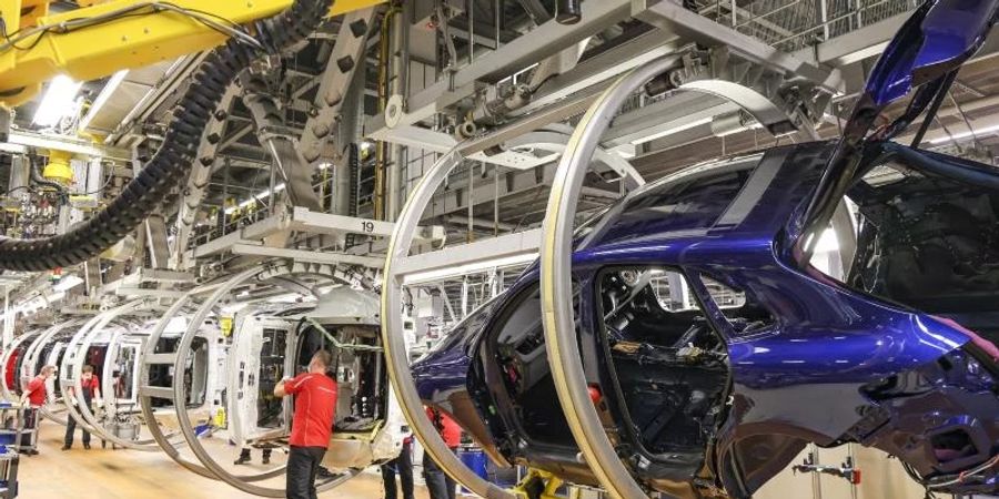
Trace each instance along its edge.
<path fill-rule="evenodd" d="M 201 326 L 204 324 L 205 319 L 214 309 L 215 305 L 218 305 L 222 298 L 232 292 L 232 289 L 250 279 L 260 279 L 262 282 L 275 279 L 275 278 L 284 278 L 286 279 L 289 276 L 294 275 L 315 275 L 329 277 L 331 281 L 342 282 L 342 278 L 337 276 L 334 271 L 325 272 L 324 269 L 327 266 L 323 265 L 302 265 L 297 266 L 295 264 L 266 264 L 258 267 L 250 268 L 240 274 L 229 277 L 222 282 L 212 283 L 205 286 L 202 286 L 194 292 L 184 296 L 184 298 L 179 299 L 171 308 L 167 312 L 167 314 L 160 319 L 157 328 L 153 330 L 153 334 L 150 336 L 149 344 L 147 344 L 147 350 L 144 355 L 151 355 L 154 352 L 157 343 L 159 343 L 160 337 L 162 337 L 162 333 L 167 327 L 167 324 L 178 314 L 178 312 L 183 308 L 185 303 L 195 295 L 204 295 L 210 293 L 210 295 L 198 305 L 198 309 L 192 316 L 192 318 L 188 322 L 188 327 L 181 337 L 181 340 L 178 343 L 175 358 L 173 361 L 173 371 L 174 373 L 183 373 L 184 366 L 188 360 L 188 355 L 190 353 L 190 348 L 194 342 L 194 338 L 198 337 L 199 332 L 201 330 Z M 281 283 L 275 283 L 275 285 L 281 285 Z M 301 289 L 307 289 L 307 287 L 302 287 Z M 301 291 L 296 291 L 301 293 Z M 140 368 L 140 380 L 148 380 L 149 377 L 149 364 L 142 363 Z M 283 488 L 270 488 L 270 487 L 261 487 L 253 485 L 252 482 L 262 481 L 270 478 L 278 477 L 285 472 L 286 467 L 280 466 L 272 470 L 256 473 L 256 475 L 246 475 L 239 476 L 229 472 L 224 469 L 219 462 L 209 454 L 208 449 L 201 445 L 198 435 L 194 431 L 194 427 L 191 422 L 191 417 L 188 414 L 186 406 L 182 403 L 186 398 L 186 393 L 184 385 L 182 383 L 173 384 L 173 407 L 176 411 L 176 419 L 181 429 L 181 435 L 183 435 L 184 440 L 190 448 L 190 450 L 194 454 L 195 458 L 201 462 L 201 465 L 193 464 L 183 459 L 180 454 L 176 451 L 175 447 L 169 445 L 169 448 L 164 447 L 167 454 L 178 461 L 181 466 L 198 472 L 208 478 L 222 480 L 232 487 L 242 490 L 246 493 L 252 493 L 255 496 L 262 497 L 274 497 L 282 498 L 285 497 L 285 489 Z M 143 396 L 140 393 L 140 401 L 142 404 L 143 413 L 147 414 L 147 418 L 151 416 L 152 407 L 149 404 L 152 397 L 149 395 Z M 178 403 L 178 401 L 181 403 Z M 160 440 L 162 434 L 159 430 L 153 431 L 153 437 Z M 161 442 L 161 446 L 163 444 Z M 326 491 L 339 487 L 343 482 L 350 480 L 356 475 L 355 470 L 351 470 L 337 478 L 336 480 L 327 481 L 319 487 L 316 487 L 317 491 Z"/>

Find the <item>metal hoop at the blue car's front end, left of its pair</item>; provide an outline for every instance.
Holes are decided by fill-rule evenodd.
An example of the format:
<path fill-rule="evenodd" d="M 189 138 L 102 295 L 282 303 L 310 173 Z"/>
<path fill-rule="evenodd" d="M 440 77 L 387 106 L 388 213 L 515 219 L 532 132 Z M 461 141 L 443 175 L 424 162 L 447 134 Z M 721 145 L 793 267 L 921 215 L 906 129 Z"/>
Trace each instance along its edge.
<path fill-rule="evenodd" d="M 555 149 L 553 144 L 556 143 L 557 138 L 552 132 L 535 133 L 542 133 L 538 138 L 542 139 L 541 143 L 544 144 L 545 149 Z M 531 139 L 525 138 L 516 141 L 516 144 L 524 145 L 529 142 Z M 437 434 L 430 419 L 427 419 L 423 409 L 423 401 L 416 393 L 413 374 L 410 371 L 408 353 L 406 352 L 405 335 L 403 333 L 401 314 L 403 276 L 396 272 L 395 264 L 408 256 L 410 247 L 413 244 L 413 238 L 420 224 L 420 217 L 423 216 L 423 212 L 430 204 L 434 192 L 444 183 L 447 175 L 465 160 L 460 152 L 461 147 L 462 144 L 458 144 L 441 156 L 431 166 L 430 171 L 423 175 L 406 201 L 405 206 L 403 206 L 392 231 L 382 285 L 382 346 L 385 348 L 385 364 L 389 367 L 389 377 L 395 390 L 396 399 L 402 407 L 403 415 L 410 421 L 413 434 L 420 439 L 424 450 L 430 452 L 434 461 L 447 475 L 472 492 L 488 499 L 513 499 L 514 496 L 512 493 L 486 481 L 458 460 L 441 435 Z M 617 162 L 614 161 L 614 163 L 616 164 Z M 615 169 L 615 171 L 617 170 Z M 630 167 L 630 164 L 627 164 L 627 167 L 623 169 L 620 173 L 636 185 L 642 185 L 645 182 Z"/>

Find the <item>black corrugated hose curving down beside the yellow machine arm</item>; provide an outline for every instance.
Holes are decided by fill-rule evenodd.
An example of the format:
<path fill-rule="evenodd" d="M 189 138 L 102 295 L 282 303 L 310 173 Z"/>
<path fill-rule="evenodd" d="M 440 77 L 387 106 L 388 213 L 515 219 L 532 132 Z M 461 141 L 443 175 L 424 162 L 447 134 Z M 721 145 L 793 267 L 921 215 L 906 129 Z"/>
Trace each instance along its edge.
<path fill-rule="evenodd" d="M 258 39 L 280 51 L 305 40 L 330 11 L 332 0 L 295 0 L 284 12 L 256 23 Z M 69 232 L 38 240 L 0 238 L 0 269 L 47 271 L 82 263 L 131 233 L 180 185 L 196 156 L 201 132 L 225 88 L 256 53 L 230 39 L 212 50 L 179 101 L 160 150 L 111 203 Z"/>

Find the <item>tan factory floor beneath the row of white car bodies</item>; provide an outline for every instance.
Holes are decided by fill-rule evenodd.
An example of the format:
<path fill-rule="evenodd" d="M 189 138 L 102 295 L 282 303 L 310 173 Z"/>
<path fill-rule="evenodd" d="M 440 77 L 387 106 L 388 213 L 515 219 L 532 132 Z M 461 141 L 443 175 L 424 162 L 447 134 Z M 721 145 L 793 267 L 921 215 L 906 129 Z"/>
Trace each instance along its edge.
<path fill-rule="evenodd" d="M 101 449 L 94 439 L 91 450 L 83 450 L 80 435 L 72 450 L 61 451 L 64 427 L 43 421 L 39 455 L 21 457 L 19 499 L 249 499 L 226 483 L 209 480 L 181 468 L 162 452 Z M 260 460 L 260 452 L 253 452 Z M 244 472 L 249 471 L 245 469 Z M 420 469 L 416 469 L 420 472 Z M 272 485 L 273 482 L 268 482 Z M 383 497 L 379 475 L 361 473 L 343 486 L 321 493 L 337 499 L 377 499 Z M 426 499 L 426 490 L 417 486 L 416 499 Z"/>

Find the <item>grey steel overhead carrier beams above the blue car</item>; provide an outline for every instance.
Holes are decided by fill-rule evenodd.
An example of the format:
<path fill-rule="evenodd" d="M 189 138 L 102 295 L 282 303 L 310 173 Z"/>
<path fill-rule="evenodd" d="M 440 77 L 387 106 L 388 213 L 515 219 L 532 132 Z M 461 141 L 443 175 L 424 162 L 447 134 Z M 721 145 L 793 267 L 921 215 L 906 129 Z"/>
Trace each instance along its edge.
<path fill-rule="evenodd" d="M 625 9 L 627 3 L 627 9 Z M 512 136 L 528 131 L 524 123 L 501 128 L 502 132 L 491 133 L 476 130 L 470 125 L 502 125 L 514 116 L 532 116 L 536 130 L 555 121 L 564 120 L 585 109 L 592 98 L 605 88 L 609 80 L 629 71 L 644 61 L 664 54 L 685 53 L 683 65 L 669 71 L 658 81 L 658 93 L 678 89 L 693 89 L 710 93 L 716 90 L 723 94 L 737 91 L 744 95 L 743 101 L 756 102 L 757 108 L 766 112 L 750 113 L 763 119 L 761 124 L 771 133 L 788 134 L 800 132 L 808 139 L 815 139 L 815 128 L 821 122 L 825 110 L 831 98 L 842 92 L 842 78 L 839 70 L 815 64 L 795 54 L 777 50 L 766 43 L 740 33 L 731 27 L 719 24 L 707 18 L 685 9 L 677 2 L 663 0 L 659 2 L 636 0 L 632 2 L 587 2 L 594 11 L 589 18 L 584 12 L 586 24 L 575 30 L 566 30 L 555 21 L 549 21 L 527 32 L 516 41 L 501 47 L 498 50 L 477 58 L 470 64 L 456 70 L 446 81 L 412 95 L 406 102 L 397 100 L 386 110 L 384 116 L 370 120 L 370 136 L 403 145 L 430 147 L 444 152 L 458 144 L 461 135 L 474 135 L 472 142 L 478 142 L 480 135 Z M 484 89 L 504 75 L 512 74 L 528 65 L 527 58 L 537 60 L 541 57 L 559 55 L 567 48 L 581 43 L 597 27 L 606 28 L 626 20 L 629 14 L 658 28 L 653 32 L 639 33 L 634 39 L 619 43 L 593 61 L 582 60 L 578 64 L 562 67 L 557 74 L 546 75 L 544 84 L 532 88 L 529 95 L 522 95 L 516 86 L 507 86 L 511 92 L 498 89 L 487 92 Z M 609 23 L 609 24 L 608 24 Z M 544 40 L 542 42 L 541 40 Z M 538 47 L 545 52 L 538 53 Z M 548 59 L 545 59 L 547 61 Z M 563 58 L 564 60 L 564 58 Z M 552 61 L 555 61 L 553 59 Z M 523 65 L 517 65 L 523 64 Z M 549 64 L 542 63 L 547 68 Z M 506 72 L 503 72 L 503 71 Z M 738 86 L 725 84 L 730 82 Z M 492 96 L 492 101 L 484 99 Z M 506 105 L 511 100 L 526 101 L 519 105 Z M 702 98 L 709 99 L 709 98 Z M 766 101 L 766 102 L 765 102 Z M 558 112 L 558 109 L 567 112 Z M 488 110 L 482 112 L 477 110 Z M 420 123 L 438 113 L 456 116 L 458 139 L 442 131 L 424 129 Z M 549 120 L 538 121 L 535 114 L 544 114 Z M 464 118 L 471 119 L 465 121 Z M 482 118 L 476 120 L 476 118 Z M 528 118 L 528 119 L 532 119 Z M 649 126 L 654 126 L 652 123 Z M 743 118 L 751 124 L 751 119 Z M 465 129 L 465 125 L 468 125 Z M 505 140 L 495 141 L 494 147 L 502 146 Z M 462 144 L 463 149 L 464 144 Z M 492 150 L 485 157 L 476 157 L 486 163 L 512 167 L 535 167 L 544 164 L 541 161 L 525 161 L 522 157 L 508 157 Z M 470 151 L 474 152 L 474 151 Z M 503 151 L 511 154 L 511 151 Z"/>

